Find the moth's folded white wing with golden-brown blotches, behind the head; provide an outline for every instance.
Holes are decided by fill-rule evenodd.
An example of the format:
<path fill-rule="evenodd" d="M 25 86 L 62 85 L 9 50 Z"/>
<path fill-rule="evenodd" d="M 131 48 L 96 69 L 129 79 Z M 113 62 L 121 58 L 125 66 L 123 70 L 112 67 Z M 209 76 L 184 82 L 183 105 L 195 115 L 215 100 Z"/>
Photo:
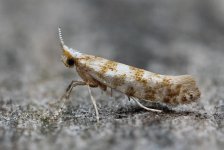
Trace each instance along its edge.
<path fill-rule="evenodd" d="M 102 84 L 127 96 L 169 104 L 190 103 L 200 97 L 190 75 L 165 76 L 92 55 L 81 55 L 77 67 Z"/>

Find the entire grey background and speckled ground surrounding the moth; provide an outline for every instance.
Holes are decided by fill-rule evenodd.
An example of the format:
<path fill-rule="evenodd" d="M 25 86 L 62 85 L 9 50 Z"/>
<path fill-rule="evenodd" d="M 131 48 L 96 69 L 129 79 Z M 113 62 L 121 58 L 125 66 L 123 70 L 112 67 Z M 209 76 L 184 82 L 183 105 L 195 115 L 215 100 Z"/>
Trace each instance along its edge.
<path fill-rule="evenodd" d="M 199 102 L 147 112 L 120 94 L 76 88 L 65 43 L 161 74 L 192 74 Z M 223 0 L 0 0 L 0 149 L 223 149 Z M 63 109 L 61 110 L 60 107 Z M 61 110 L 61 111 L 60 111 Z"/>

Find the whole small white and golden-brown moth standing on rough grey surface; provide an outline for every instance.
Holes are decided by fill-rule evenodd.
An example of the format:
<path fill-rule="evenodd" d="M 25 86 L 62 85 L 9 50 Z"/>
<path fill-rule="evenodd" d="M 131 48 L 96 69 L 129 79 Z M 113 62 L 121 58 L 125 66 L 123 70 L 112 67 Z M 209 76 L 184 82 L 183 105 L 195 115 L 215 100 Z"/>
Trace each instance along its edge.
<path fill-rule="evenodd" d="M 161 110 L 147 108 L 138 100 L 185 104 L 194 102 L 200 97 L 195 79 L 190 75 L 160 75 L 105 58 L 83 54 L 67 47 L 62 39 L 60 28 L 58 32 L 62 48 L 62 62 L 66 67 L 75 67 L 83 80 L 72 81 L 63 98 L 68 99 L 75 86 L 87 85 L 97 121 L 99 121 L 99 114 L 90 87 L 99 87 L 103 91 L 106 91 L 107 88 L 118 90 L 135 100 L 140 107 L 157 112 L 161 112 Z"/>

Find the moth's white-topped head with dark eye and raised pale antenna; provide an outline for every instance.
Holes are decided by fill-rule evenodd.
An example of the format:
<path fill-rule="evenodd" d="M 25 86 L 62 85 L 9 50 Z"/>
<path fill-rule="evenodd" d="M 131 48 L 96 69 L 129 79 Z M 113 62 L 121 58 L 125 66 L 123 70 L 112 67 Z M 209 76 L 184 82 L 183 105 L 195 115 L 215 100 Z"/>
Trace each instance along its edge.
<path fill-rule="evenodd" d="M 58 28 L 58 34 L 59 34 L 59 38 L 60 38 L 60 42 L 61 42 L 61 49 L 62 49 L 61 60 L 66 67 L 72 68 L 75 66 L 75 57 L 74 57 L 75 50 L 67 47 L 64 44 L 60 28 Z"/>

